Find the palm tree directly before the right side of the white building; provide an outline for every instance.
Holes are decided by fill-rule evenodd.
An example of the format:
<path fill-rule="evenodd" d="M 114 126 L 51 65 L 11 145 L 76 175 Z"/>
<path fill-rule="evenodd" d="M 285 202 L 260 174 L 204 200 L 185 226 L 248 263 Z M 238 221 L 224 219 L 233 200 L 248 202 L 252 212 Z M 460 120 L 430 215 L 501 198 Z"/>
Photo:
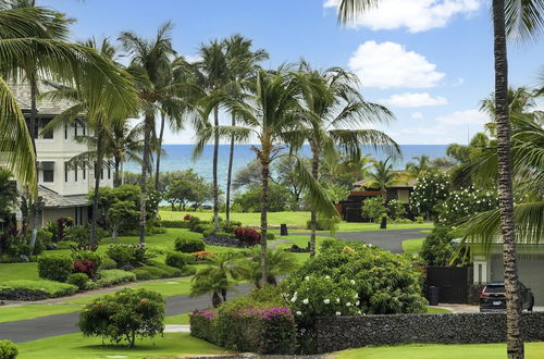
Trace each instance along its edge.
<path fill-rule="evenodd" d="M 95 39 L 90 39 L 86 42 L 89 48 L 97 48 L 97 42 Z M 108 39 L 104 39 L 99 49 L 100 53 L 104 59 L 111 60 L 114 51 L 113 47 Z M 73 123 L 82 114 L 85 115 L 87 125 L 94 131 L 94 143 L 95 143 L 95 161 L 94 163 L 94 175 L 95 175 L 95 187 L 92 195 L 92 220 L 90 223 L 90 248 L 96 248 L 98 245 L 97 239 L 97 223 L 98 223 L 98 197 L 100 188 L 100 177 L 103 168 L 104 157 L 108 151 L 111 151 L 107 138 L 107 133 L 110 132 L 111 127 L 119 125 L 119 123 L 124 123 L 126 119 L 137 111 L 137 94 L 134 86 L 129 81 L 128 74 L 116 66 L 119 76 L 123 77 L 125 81 L 121 86 L 100 86 L 91 77 L 78 78 L 77 87 L 67 86 L 55 86 L 57 89 L 45 94 L 45 96 L 51 98 L 52 100 L 69 100 L 73 103 L 69 109 L 64 110 L 58 114 L 45 128 L 44 132 L 51 131 L 66 123 Z M 108 106 L 110 97 L 123 97 L 124 102 L 120 102 L 116 107 L 111 108 Z"/>

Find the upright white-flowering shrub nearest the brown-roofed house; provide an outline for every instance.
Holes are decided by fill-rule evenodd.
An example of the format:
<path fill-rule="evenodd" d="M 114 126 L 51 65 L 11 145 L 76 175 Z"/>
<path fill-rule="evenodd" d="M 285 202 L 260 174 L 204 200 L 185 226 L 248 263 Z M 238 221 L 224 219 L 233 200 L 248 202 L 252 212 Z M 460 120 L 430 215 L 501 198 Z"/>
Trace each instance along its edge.
<path fill-rule="evenodd" d="M 410 195 L 410 207 L 413 212 L 428 219 L 436 214 L 435 206 L 449 195 L 449 175 L 444 172 L 425 172 L 418 177 L 418 184 Z"/>

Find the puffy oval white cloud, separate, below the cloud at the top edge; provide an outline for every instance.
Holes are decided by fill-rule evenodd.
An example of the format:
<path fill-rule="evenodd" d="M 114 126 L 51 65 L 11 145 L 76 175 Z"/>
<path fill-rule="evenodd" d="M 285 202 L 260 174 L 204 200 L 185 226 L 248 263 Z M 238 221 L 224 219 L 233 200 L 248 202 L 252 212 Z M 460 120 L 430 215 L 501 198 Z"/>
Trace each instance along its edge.
<path fill-rule="evenodd" d="M 348 64 L 367 87 L 434 87 L 445 76 L 425 57 L 390 41 L 359 45 Z"/>

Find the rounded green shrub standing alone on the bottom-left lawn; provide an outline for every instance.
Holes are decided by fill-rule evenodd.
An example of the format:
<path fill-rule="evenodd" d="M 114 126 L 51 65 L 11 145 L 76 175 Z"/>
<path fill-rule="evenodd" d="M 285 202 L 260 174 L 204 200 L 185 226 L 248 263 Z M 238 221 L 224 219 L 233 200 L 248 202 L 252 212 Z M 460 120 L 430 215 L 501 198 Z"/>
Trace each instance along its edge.
<path fill-rule="evenodd" d="M 113 343 L 136 336 L 154 337 L 164 331 L 164 299 L 157 292 L 123 289 L 87 305 L 79 314 L 79 329 L 86 336 L 101 336 Z"/>

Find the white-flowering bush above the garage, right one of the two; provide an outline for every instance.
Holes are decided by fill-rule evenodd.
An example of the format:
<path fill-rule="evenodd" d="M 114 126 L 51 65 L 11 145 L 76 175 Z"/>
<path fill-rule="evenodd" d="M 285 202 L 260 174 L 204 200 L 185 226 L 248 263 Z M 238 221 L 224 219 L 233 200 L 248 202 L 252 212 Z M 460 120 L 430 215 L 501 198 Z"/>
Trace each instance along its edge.
<path fill-rule="evenodd" d="M 437 222 L 440 225 L 452 226 L 465 218 L 496 209 L 497 206 L 495 193 L 478 189 L 474 186 L 461 188 L 450 193 L 446 200 L 437 206 Z"/>

